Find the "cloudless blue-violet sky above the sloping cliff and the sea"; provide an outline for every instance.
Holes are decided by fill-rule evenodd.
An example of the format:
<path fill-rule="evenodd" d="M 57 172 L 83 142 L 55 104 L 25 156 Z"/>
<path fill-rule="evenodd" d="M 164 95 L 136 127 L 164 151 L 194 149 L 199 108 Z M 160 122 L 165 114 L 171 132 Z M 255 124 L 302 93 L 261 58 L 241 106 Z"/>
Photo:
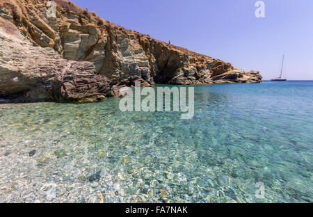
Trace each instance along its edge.
<path fill-rule="evenodd" d="M 313 80 L 313 0 L 74 0 L 127 29 L 206 54 L 243 70 Z"/>

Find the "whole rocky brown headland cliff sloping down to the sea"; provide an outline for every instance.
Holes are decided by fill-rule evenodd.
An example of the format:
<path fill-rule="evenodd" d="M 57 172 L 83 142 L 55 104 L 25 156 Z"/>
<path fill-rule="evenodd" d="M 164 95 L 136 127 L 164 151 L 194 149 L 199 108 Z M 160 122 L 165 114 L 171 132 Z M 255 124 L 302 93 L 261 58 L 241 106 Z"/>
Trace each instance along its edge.
<path fill-rule="evenodd" d="M 21 93 L 25 95 L 33 91 L 34 83 L 17 85 L 18 81 L 8 80 L 8 74 L 45 80 L 41 68 L 45 72 L 50 72 L 50 81 L 60 80 L 59 74 L 69 75 L 66 81 L 60 81 L 63 83 L 63 95 L 50 97 L 57 101 L 88 100 L 90 97 L 93 100 L 103 99 L 112 95 L 107 92 L 113 85 L 134 76 L 150 84 L 261 82 L 262 77 L 259 72 L 244 72 L 232 67 L 230 63 L 168 45 L 150 38 L 149 35 L 116 26 L 97 17 L 95 13 L 89 13 L 75 6 L 70 1 L 55 2 L 56 17 L 50 17 L 47 16 L 49 9 L 47 1 L 0 0 L 0 17 L 2 17 L 0 61 L 5 65 L 0 67 L 1 95 Z M 15 27 L 11 24 L 17 26 L 18 31 L 13 31 Z M 10 42 L 10 38 L 14 37 L 23 42 L 15 40 Z M 27 45 L 24 46 L 23 43 Z M 10 49 L 7 47 L 8 44 Z M 18 47 L 24 49 L 23 51 L 28 55 L 12 55 L 22 53 Z M 5 61 L 8 59 L 10 61 Z M 24 63 L 22 64 L 25 61 L 31 64 L 25 66 Z M 18 65 L 16 63 L 19 62 L 22 68 L 16 67 Z M 75 78 L 70 78 L 71 74 L 76 74 Z M 11 77 L 15 78 L 13 75 Z M 79 89 L 79 82 L 77 83 L 75 79 L 81 77 L 88 77 L 89 83 L 87 82 L 88 85 L 81 90 L 76 90 Z M 71 84 L 66 86 L 64 83 Z M 99 90 L 104 83 L 107 88 Z M 19 87 L 15 88 L 16 86 Z M 53 85 L 49 83 L 47 86 L 49 88 L 45 91 L 51 92 L 50 87 Z M 72 95 L 75 93 L 74 97 L 69 97 L 71 93 L 66 93 L 67 90 L 72 90 Z M 61 93 L 60 91 L 58 93 Z M 96 93 L 94 96 L 91 94 L 93 91 Z"/>

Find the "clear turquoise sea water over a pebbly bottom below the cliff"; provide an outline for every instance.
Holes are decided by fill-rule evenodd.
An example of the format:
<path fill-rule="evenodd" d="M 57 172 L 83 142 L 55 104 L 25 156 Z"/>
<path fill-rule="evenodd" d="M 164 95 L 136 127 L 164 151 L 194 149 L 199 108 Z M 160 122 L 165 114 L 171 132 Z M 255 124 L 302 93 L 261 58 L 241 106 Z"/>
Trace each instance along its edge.
<path fill-rule="evenodd" d="M 0 202 L 313 202 L 313 81 L 195 86 L 191 120 L 119 101 L 0 105 Z"/>

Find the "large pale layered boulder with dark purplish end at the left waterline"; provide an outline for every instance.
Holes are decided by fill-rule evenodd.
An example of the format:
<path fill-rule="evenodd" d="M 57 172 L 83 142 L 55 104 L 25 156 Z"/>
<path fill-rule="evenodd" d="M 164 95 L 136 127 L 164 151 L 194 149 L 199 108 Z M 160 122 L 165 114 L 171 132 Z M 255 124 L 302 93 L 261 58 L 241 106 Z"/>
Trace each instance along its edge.
<path fill-rule="evenodd" d="M 111 81 L 96 74 L 93 63 L 67 61 L 1 27 L 0 63 L 0 97 L 13 102 L 95 102 L 113 96 Z"/>

